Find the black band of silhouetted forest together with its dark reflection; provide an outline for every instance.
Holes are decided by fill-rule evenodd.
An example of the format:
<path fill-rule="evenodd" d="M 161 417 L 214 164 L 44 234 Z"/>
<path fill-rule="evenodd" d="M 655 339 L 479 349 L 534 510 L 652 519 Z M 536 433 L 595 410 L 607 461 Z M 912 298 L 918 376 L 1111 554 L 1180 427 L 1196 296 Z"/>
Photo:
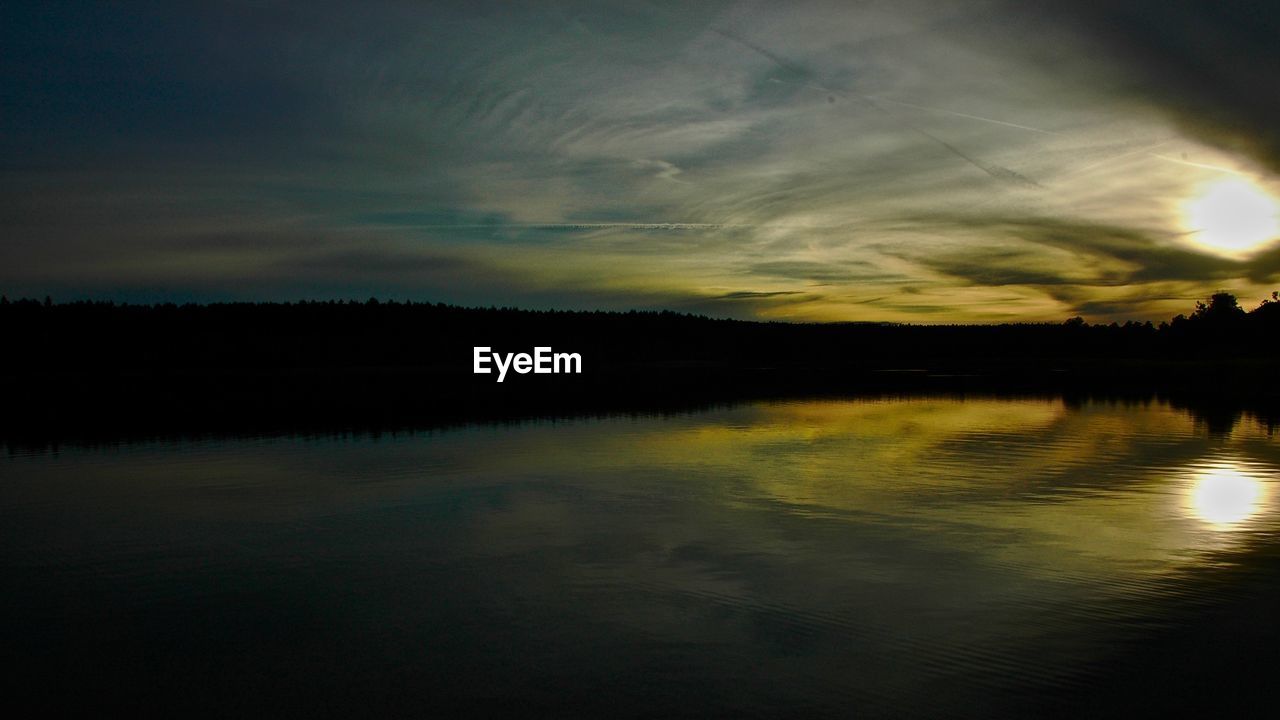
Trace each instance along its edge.
<path fill-rule="evenodd" d="M 0 327 L 8 436 L 175 423 L 470 421 L 842 393 L 1161 395 L 1267 416 L 1280 406 L 1275 293 L 1245 311 L 1220 292 L 1160 324 L 1002 325 L 762 323 L 374 299 L 0 299 Z M 474 346 L 577 352 L 582 374 L 509 373 L 497 383 L 495 374 L 472 374 Z"/>

